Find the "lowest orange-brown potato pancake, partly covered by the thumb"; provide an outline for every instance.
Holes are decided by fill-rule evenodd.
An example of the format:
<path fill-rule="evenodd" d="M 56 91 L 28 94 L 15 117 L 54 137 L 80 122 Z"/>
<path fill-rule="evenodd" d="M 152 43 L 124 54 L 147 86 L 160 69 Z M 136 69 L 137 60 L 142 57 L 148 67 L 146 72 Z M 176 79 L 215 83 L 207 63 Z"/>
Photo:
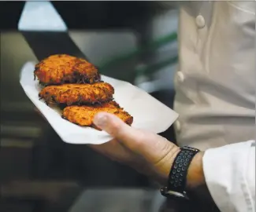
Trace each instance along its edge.
<path fill-rule="evenodd" d="M 119 117 L 123 122 L 130 126 L 132 125 L 132 115 L 128 114 L 127 111 L 124 111 L 116 101 L 109 101 L 104 104 L 94 106 L 69 106 L 64 108 L 62 118 L 80 126 L 91 126 L 96 130 L 101 130 L 93 123 L 95 115 L 100 111 L 106 111 L 113 115 L 117 115 L 117 117 Z"/>

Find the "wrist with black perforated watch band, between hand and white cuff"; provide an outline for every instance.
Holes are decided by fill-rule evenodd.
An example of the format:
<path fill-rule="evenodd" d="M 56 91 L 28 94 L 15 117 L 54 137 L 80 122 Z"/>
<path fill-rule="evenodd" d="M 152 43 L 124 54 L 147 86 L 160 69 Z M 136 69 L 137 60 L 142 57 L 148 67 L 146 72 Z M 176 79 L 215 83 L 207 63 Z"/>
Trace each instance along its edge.
<path fill-rule="evenodd" d="M 202 166 L 204 152 L 187 146 L 180 149 L 181 151 L 173 155 L 168 183 L 161 188 L 161 194 L 166 197 L 188 199 L 187 192 L 191 195 L 194 191 L 202 190 L 209 196 Z"/>

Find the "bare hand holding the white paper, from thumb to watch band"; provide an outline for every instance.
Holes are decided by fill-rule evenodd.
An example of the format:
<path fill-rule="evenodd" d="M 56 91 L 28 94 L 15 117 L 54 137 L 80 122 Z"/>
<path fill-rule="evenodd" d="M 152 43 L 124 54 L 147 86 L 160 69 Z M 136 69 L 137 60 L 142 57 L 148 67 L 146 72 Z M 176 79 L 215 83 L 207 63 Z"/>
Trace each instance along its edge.
<path fill-rule="evenodd" d="M 139 173 L 162 184 L 166 183 L 180 148 L 155 133 L 136 130 L 116 115 L 106 112 L 98 113 L 94 123 L 114 139 L 105 144 L 91 144 L 91 148 L 110 159 L 132 166 Z"/>

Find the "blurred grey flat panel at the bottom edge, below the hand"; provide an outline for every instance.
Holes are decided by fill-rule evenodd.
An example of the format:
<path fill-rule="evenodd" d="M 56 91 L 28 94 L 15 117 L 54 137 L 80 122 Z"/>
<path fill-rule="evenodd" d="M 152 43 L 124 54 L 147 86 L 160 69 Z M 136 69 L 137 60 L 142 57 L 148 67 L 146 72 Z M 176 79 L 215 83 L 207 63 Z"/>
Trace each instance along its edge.
<path fill-rule="evenodd" d="M 156 192 L 136 188 L 88 189 L 80 194 L 69 212 L 150 212 Z"/>

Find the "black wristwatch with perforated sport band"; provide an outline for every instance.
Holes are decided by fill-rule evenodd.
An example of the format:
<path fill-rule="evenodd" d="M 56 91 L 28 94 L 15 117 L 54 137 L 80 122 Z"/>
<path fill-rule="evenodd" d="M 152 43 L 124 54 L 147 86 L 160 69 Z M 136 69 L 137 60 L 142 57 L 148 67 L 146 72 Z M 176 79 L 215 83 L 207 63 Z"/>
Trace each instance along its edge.
<path fill-rule="evenodd" d="M 169 173 L 167 186 L 161 188 L 162 196 L 178 199 L 188 199 L 185 190 L 187 184 L 187 170 L 193 157 L 200 152 L 197 148 L 183 147 L 174 159 Z"/>

